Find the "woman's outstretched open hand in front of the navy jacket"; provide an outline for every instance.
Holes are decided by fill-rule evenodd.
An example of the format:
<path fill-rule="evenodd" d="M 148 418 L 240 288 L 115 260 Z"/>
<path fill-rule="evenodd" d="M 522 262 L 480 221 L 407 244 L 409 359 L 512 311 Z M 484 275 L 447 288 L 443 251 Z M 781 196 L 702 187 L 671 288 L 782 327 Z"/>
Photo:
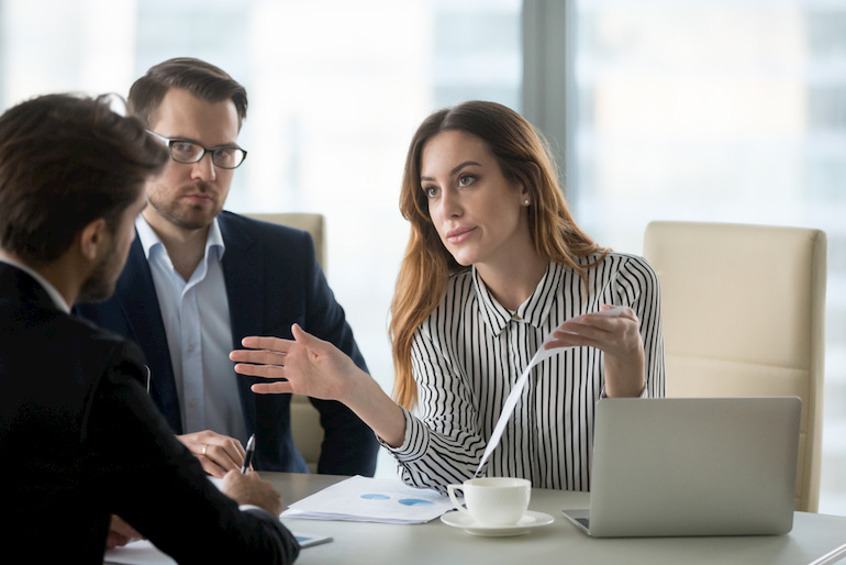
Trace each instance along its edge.
<path fill-rule="evenodd" d="M 255 384 L 258 394 L 291 392 L 346 403 L 357 379 L 369 376 L 353 359 L 329 342 L 324 342 L 298 324 L 291 328 L 293 341 L 279 337 L 244 337 L 245 350 L 235 350 L 230 359 L 235 372 L 263 378 L 282 378 L 275 383 Z"/>

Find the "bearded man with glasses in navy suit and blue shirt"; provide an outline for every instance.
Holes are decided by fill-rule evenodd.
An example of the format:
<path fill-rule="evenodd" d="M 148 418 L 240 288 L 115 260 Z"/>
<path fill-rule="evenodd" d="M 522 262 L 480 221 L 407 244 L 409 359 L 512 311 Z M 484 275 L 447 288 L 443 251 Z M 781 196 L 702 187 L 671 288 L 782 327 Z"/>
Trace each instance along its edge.
<path fill-rule="evenodd" d="M 170 149 L 147 185 L 149 206 L 114 297 L 77 312 L 141 344 L 151 396 L 212 475 L 237 468 L 256 434 L 256 469 L 308 472 L 293 445 L 290 396 L 257 396 L 229 359 L 248 335 L 290 337 L 299 323 L 367 369 L 311 237 L 222 212 L 234 169 L 246 90 L 208 63 L 170 59 L 130 90 L 130 111 Z M 324 442 L 319 473 L 369 475 L 374 433 L 339 402 L 312 399 Z"/>

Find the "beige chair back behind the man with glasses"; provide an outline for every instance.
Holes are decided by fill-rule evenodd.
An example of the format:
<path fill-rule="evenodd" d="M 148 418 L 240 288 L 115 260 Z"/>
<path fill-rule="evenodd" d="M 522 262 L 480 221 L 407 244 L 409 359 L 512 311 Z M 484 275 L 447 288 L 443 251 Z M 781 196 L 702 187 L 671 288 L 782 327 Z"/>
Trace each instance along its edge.
<path fill-rule="evenodd" d="M 326 228 L 323 214 L 257 213 L 244 215 L 309 232 L 314 240 L 318 263 L 323 268 L 323 273 L 326 272 Z M 291 433 L 293 434 L 293 444 L 305 458 L 309 469 L 316 473 L 321 445 L 323 444 L 323 426 L 320 424 L 320 412 L 308 397 L 291 395 Z"/>

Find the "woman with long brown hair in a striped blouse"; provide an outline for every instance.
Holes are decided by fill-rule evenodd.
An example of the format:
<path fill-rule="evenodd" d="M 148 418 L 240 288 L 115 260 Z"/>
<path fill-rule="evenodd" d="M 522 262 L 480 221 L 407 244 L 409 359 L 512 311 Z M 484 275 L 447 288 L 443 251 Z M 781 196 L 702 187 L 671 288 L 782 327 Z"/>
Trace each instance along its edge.
<path fill-rule="evenodd" d="M 505 397 L 555 331 L 547 347 L 571 348 L 532 369 L 485 473 L 588 490 L 593 405 L 664 396 L 655 273 L 579 230 L 541 139 L 497 103 L 421 124 L 400 204 L 412 229 L 391 306 L 394 399 L 298 326 L 294 341 L 245 339 L 254 351 L 232 353 L 235 370 L 288 379 L 256 392 L 344 402 L 405 483 L 445 491 L 476 472 Z"/>

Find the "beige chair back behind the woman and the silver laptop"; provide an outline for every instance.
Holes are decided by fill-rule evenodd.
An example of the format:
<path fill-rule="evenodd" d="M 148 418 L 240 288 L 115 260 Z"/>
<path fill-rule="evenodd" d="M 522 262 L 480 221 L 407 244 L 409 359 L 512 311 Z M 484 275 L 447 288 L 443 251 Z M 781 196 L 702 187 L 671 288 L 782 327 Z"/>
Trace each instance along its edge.
<path fill-rule="evenodd" d="M 795 508 L 815 512 L 823 431 L 825 233 L 653 222 L 644 255 L 661 284 L 667 396 L 801 398 Z"/>

